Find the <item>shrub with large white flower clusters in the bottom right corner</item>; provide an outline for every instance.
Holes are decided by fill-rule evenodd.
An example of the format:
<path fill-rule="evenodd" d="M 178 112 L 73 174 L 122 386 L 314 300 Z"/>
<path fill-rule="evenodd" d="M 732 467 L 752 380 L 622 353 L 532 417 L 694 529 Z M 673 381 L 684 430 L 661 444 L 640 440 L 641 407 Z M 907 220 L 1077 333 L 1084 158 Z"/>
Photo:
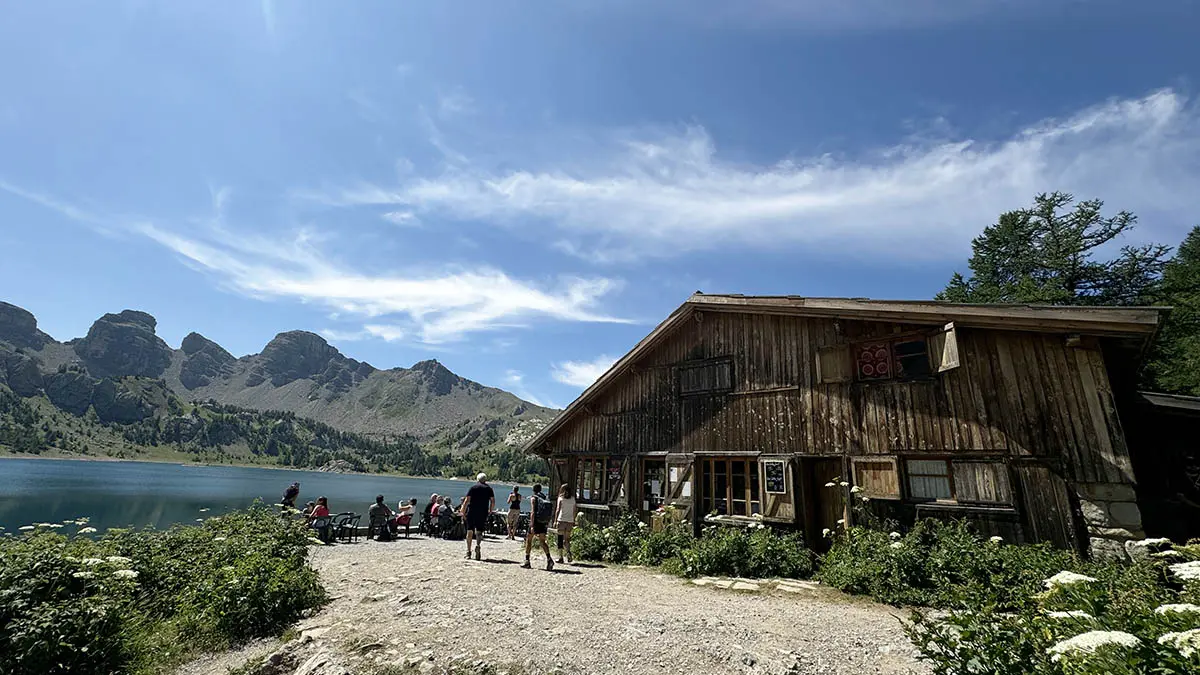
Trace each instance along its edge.
<path fill-rule="evenodd" d="M 1186 563 L 1184 563 L 1186 565 Z M 1015 613 L 914 613 L 908 637 L 937 675 L 1200 673 L 1200 584 L 1163 561 L 1046 577 Z"/>

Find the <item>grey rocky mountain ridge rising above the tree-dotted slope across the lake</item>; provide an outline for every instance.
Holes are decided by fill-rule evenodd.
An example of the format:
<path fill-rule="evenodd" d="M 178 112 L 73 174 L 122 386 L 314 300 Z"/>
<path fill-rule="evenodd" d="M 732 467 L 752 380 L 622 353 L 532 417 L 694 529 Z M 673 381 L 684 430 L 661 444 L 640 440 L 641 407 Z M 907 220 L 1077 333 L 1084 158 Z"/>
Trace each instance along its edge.
<path fill-rule="evenodd" d="M 156 329 L 154 316 L 122 310 L 59 342 L 32 312 L 0 303 L 0 386 L 72 416 L 94 413 L 101 424 L 140 424 L 205 402 L 290 413 L 364 437 L 412 438 L 424 452 L 451 456 L 516 448 L 557 414 L 437 359 L 377 369 L 307 330 L 278 333 L 262 352 L 234 357 L 199 333 L 172 348 Z"/>

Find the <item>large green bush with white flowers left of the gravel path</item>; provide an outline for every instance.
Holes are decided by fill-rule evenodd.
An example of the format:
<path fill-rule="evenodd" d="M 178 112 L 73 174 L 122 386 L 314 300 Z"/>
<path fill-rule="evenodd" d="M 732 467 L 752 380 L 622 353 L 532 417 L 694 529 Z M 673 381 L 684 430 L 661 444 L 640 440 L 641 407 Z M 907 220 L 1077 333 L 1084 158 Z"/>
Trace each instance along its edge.
<path fill-rule="evenodd" d="M 0 673 L 169 670 L 277 634 L 325 595 L 302 524 L 254 507 L 198 527 L 0 539 Z"/>

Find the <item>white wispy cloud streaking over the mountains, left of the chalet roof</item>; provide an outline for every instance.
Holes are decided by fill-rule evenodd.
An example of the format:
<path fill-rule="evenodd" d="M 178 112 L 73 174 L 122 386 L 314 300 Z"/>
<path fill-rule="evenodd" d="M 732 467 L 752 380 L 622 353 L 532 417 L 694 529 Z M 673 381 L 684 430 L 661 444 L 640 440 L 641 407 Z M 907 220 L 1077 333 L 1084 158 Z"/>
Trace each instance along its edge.
<path fill-rule="evenodd" d="M 0 190 L 89 226 L 120 227 L 127 234 L 146 237 L 229 291 L 263 300 L 319 304 L 340 319 L 364 321 L 359 331 L 326 330 L 331 339 L 440 345 L 538 321 L 629 323 L 598 309 L 620 287 L 613 279 L 563 276 L 553 283 L 538 283 L 486 264 L 422 274 L 370 274 L 332 261 L 319 247 L 320 235 L 307 229 L 288 238 L 234 232 L 218 213 L 185 233 L 149 219 L 97 215 L 11 183 L 0 181 Z M 214 204 L 223 208 L 228 193 L 217 191 Z"/>

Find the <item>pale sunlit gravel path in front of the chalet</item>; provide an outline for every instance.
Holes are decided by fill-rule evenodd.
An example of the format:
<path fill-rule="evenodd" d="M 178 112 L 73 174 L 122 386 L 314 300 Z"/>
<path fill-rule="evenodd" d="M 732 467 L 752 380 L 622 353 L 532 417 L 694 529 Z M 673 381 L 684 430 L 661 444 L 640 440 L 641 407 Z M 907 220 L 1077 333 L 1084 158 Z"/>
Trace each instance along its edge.
<path fill-rule="evenodd" d="M 289 662 L 355 675 L 928 673 L 899 613 L 827 589 L 742 592 L 592 565 L 547 573 L 518 566 L 517 542 L 488 538 L 482 562 L 464 549 L 413 538 L 313 550 L 332 602 L 299 626 Z M 188 673 L 224 675 L 227 661 Z"/>

